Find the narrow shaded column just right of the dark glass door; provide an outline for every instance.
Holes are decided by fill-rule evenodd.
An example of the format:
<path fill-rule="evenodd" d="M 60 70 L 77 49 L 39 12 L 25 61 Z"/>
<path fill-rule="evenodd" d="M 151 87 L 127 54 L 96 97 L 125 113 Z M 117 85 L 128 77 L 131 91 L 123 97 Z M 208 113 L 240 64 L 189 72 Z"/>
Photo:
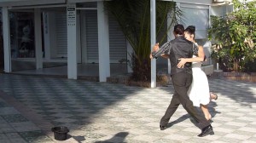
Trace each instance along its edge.
<path fill-rule="evenodd" d="M 34 20 L 35 20 L 36 66 L 37 66 L 37 69 L 41 69 L 43 68 L 41 9 L 34 10 Z"/>

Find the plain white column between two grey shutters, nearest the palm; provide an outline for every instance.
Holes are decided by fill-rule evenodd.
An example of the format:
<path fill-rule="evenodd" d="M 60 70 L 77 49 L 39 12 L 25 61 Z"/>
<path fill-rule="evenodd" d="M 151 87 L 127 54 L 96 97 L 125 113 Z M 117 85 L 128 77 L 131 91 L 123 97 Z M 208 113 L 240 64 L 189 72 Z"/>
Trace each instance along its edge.
<path fill-rule="evenodd" d="M 105 13 L 103 2 L 97 2 L 97 15 L 100 82 L 107 82 L 107 77 L 110 77 L 109 31 L 108 14 Z"/>

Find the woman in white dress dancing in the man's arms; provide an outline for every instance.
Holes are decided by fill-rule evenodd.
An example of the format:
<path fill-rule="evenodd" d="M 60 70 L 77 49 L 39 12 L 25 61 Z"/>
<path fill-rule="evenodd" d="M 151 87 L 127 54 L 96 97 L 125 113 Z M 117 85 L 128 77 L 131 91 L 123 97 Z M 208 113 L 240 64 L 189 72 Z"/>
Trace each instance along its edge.
<path fill-rule="evenodd" d="M 207 75 L 201 70 L 201 62 L 204 61 L 205 54 L 203 47 L 195 43 L 195 26 L 188 26 L 185 29 L 184 37 L 194 43 L 193 58 L 182 58 L 177 64 L 178 68 L 182 68 L 186 62 L 192 62 L 193 82 L 190 85 L 188 94 L 189 99 L 193 101 L 194 106 L 200 106 L 207 120 L 211 120 L 212 116 L 208 111 L 207 105 L 210 100 L 218 99 L 218 95 L 214 93 L 209 94 L 209 84 Z"/>

